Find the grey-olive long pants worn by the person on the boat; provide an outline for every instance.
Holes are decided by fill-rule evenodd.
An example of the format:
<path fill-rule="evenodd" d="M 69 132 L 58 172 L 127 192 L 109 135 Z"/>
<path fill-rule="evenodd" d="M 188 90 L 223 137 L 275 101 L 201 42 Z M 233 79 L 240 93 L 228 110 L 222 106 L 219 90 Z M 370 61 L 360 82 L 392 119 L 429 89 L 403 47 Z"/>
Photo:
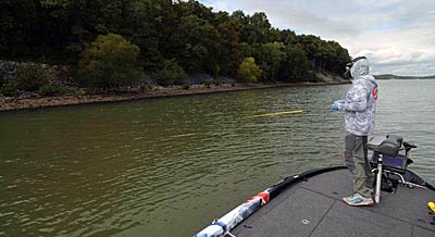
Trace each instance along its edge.
<path fill-rule="evenodd" d="M 368 151 L 364 145 L 368 142 L 366 136 L 346 136 L 345 162 L 352 173 L 353 192 L 358 192 L 366 198 L 372 197 L 373 173 L 370 167 Z"/>

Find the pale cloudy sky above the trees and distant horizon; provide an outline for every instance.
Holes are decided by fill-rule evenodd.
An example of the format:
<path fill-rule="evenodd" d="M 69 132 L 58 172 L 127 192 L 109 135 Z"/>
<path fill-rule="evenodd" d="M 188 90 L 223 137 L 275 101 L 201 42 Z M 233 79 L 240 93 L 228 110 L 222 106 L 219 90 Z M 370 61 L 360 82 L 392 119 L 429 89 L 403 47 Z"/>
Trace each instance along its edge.
<path fill-rule="evenodd" d="M 274 27 L 338 41 L 373 74 L 435 75 L 435 0 L 200 0 L 213 11 L 265 12 Z"/>

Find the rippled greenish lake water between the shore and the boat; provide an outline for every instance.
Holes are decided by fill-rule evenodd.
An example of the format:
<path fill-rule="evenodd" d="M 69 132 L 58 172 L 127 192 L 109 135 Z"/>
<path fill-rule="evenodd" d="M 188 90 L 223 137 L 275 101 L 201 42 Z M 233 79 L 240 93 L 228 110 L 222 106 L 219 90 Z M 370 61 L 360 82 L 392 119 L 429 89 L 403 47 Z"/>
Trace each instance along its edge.
<path fill-rule="evenodd" d="M 435 184 L 435 80 L 380 82 L 376 134 Z M 191 236 L 282 178 L 341 164 L 349 85 L 0 113 L 0 236 Z M 248 115 L 304 110 L 247 118 Z"/>

